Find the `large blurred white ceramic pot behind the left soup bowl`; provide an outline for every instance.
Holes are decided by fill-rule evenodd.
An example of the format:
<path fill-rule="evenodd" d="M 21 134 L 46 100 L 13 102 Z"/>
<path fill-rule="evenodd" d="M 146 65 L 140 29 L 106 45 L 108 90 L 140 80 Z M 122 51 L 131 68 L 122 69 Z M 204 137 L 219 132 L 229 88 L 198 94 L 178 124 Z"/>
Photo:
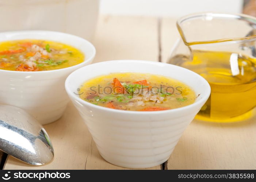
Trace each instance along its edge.
<path fill-rule="evenodd" d="M 92 40 L 99 0 L 0 0 L 0 31 L 50 30 Z"/>

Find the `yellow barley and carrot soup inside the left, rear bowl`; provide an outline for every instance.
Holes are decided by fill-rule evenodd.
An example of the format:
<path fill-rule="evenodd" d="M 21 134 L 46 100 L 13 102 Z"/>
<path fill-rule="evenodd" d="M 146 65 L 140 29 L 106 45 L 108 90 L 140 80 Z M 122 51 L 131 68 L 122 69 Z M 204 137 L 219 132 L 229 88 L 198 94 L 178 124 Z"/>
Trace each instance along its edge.
<path fill-rule="evenodd" d="M 12 40 L 0 43 L 0 69 L 46 71 L 74 66 L 84 61 L 74 47 L 48 40 Z"/>

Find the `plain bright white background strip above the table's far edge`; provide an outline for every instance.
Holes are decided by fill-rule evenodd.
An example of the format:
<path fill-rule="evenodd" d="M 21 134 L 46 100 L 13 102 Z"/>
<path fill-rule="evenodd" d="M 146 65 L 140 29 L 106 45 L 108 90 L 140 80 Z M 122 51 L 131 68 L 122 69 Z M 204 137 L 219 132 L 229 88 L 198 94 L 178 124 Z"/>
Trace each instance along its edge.
<path fill-rule="evenodd" d="M 180 17 L 195 12 L 241 13 L 243 0 L 101 0 L 100 13 Z"/>

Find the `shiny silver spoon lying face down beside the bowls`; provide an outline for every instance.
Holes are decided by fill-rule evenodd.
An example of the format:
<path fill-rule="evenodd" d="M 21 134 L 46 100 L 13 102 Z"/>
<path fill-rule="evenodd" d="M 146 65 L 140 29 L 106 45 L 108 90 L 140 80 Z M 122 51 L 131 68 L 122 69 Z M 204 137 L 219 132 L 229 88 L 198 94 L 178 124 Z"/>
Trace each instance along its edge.
<path fill-rule="evenodd" d="M 26 111 L 0 105 L 0 150 L 31 165 L 52 161 L 53 146 L 48 134 Z"/>

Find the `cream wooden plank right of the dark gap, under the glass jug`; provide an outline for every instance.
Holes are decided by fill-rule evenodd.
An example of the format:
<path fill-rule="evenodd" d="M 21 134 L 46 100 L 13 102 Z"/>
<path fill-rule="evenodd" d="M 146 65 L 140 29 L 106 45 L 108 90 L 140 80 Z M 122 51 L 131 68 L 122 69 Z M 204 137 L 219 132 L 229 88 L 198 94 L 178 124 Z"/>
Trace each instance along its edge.
<path fill-rule="evenodd" d="M 179 34 L 175 19 L 161 21 L 163 62 Z M 236 123 L 194 120 L 168 160 L 168 169 L 256 169 L 256 116 Z"/>

